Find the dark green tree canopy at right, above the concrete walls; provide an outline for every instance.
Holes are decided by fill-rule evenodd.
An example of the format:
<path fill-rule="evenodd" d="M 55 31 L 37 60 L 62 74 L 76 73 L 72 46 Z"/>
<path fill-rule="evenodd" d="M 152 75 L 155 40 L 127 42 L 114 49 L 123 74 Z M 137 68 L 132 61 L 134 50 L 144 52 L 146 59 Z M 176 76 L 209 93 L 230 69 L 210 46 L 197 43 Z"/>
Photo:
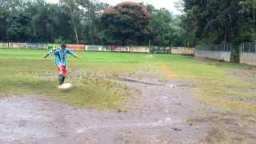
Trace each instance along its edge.
<path fill-rule="evenodd" d="M 183 0 L 186 31 L 201 43 L 255 42 L 254 0 Z"/>

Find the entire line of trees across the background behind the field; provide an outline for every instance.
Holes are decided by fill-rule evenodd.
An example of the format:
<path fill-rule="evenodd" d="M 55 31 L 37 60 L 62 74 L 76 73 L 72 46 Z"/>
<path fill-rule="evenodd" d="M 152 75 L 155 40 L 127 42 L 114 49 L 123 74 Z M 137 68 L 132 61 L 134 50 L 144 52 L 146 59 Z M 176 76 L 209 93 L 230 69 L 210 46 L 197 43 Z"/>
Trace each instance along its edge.
<path fill-rule="evenodd" d="M 195 46 L 256 41 L 255 0 L 183 0 L 181 15 L 145 3 L 0 0 L 0 42 Z"/>

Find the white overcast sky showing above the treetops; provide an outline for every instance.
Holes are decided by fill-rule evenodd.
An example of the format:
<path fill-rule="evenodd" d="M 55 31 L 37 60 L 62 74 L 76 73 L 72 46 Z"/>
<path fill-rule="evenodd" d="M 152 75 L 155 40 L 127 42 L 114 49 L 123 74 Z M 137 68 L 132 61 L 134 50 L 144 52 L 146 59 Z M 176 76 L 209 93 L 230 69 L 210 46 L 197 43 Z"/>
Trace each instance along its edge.
<path fill-rule="evenodd" d="M 46 0 L 47 2 L 58 2 L 58 0 Z M 109 3 L 111 6 L 116 5 L 120 2 L 144 2 L 153 5 L 156 8 L 164 7 L 167 10 L 170 10 L 174 14 L 180 14 L 180 12 L 175 8 L 175 2 L 181 0 L 98 0 L 99 2 Z"/>

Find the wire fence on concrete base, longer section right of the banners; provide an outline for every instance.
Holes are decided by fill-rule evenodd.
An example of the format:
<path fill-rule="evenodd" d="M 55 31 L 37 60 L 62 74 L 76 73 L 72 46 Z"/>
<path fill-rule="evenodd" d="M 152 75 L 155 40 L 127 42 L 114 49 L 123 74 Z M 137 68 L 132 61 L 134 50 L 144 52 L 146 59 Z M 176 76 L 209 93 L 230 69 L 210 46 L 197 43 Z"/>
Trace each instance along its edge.
<path fill-rule="evenodd" d="M 210 58 L 230 62 L 232 44 L 222 43 L 219 45 L 197 46 L 194 56 L 198 58 Z"/>

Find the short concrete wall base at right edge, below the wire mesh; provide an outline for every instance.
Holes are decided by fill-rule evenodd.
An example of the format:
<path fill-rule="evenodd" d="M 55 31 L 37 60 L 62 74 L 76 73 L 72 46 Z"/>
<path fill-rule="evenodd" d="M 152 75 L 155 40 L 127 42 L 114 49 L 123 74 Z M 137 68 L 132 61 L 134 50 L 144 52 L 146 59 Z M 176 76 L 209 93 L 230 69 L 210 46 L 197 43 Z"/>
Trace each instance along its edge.
<path fill-rule="evenodd" d="M 256 66 L 256 53 L 242 52 L 240 54 L 240 63 Z"/>

